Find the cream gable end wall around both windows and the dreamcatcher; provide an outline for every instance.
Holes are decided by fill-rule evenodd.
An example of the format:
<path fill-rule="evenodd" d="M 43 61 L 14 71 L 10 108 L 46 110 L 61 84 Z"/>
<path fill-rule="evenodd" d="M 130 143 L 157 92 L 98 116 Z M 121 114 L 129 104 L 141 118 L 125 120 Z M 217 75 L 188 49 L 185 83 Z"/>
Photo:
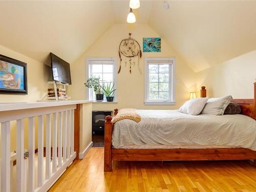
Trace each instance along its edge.
<path fill-rule="evenodd" d="M 159 37 L 150 26 L 146 24 L 127 25 L 116 24 L 106 31 L 79 59 L 71 65 L 72 86 L 69 87 L 69 95 L 73 99 L 85 99 L 86 92 L 86 57 L 117 57 L 119 66 L 118 48 L 120 41 L 129 37 L 128 33 L 136 39 L 142 49 L 143 37 Z M 176 57 L 176 100 L 177 105 L 144 105 L 144 57 Z M 190 91 L 196 90 L 196 73 L 190 69 L 182 58 L 161 39 L 161 53 L 143 53 L 139 63 L 142 74 L 137 67 L 124 68 L 117 75 L 118 79 L 118 103 L 94 103 L 93 110 L 114 110 L 115 108 L 137 109 L 177 109 L 189 97 Z"/>

